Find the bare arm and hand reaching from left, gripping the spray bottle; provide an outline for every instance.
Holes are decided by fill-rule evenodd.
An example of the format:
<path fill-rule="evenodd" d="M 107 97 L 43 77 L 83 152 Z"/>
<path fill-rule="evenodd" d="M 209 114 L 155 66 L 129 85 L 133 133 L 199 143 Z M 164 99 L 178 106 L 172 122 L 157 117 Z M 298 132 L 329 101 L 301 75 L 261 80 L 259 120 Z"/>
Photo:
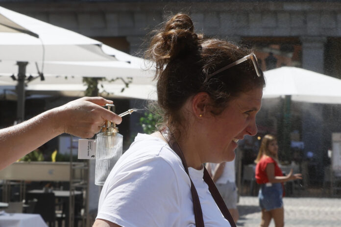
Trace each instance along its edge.
<path fill-rule="evenodd" d="M 122 118 L 101 107 L 112 101 L 84 97 L 48 110 L 19 125 L 0 130 L 0 170 L 62 133 L 90 138 L 104 120 L 120 124 Z"/>

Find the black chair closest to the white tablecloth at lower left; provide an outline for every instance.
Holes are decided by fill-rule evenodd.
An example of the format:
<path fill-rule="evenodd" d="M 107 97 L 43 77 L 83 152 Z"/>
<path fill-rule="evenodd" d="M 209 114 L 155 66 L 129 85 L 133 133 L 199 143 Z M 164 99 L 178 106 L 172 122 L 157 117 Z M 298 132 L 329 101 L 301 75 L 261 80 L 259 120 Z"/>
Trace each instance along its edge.
<path fill-rule="evenodd" d="M 26 193 L 26 200 L 34 200 L 37 202 L 34 206 L 33 213 L 40 214 L 50 227 L 55 224 L 55 196 L 54 193 Z"/>

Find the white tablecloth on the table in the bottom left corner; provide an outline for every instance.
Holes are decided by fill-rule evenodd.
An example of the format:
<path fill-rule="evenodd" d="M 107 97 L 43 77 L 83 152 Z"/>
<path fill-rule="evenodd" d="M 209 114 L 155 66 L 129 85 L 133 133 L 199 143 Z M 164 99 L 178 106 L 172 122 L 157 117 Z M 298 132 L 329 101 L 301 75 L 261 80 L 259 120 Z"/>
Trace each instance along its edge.
<path fill-rule="evenodd" d="M 48 227 L 39 214 L 0 213 L 0 227 Z"/>

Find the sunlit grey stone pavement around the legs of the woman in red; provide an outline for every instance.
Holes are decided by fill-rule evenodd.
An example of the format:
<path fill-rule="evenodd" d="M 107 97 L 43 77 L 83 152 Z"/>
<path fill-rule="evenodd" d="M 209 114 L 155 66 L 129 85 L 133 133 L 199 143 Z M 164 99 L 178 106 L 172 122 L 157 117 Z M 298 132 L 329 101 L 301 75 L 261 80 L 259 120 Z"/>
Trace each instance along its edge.
<path fill-rule="evenodd" d="M 341 199 L 285 197 L 285 227 L 341 227 Z M 259 227 L 261 209 L 258 198 L 241 196 L 237 227 Z M 273 221 L 270 227 L 274 227 Z"/>

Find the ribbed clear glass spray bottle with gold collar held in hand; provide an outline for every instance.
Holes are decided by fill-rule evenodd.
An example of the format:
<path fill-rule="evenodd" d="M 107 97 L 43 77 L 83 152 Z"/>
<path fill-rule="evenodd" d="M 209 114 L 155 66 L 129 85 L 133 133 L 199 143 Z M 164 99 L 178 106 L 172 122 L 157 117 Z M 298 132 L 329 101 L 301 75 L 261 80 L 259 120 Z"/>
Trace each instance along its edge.
<path fill-rule="evenodd" d="M 115 112 L 114 104 L 106 104 L 109 110 Z M 123 136 L 116 124 L 105 120 L 105 126 L 96 138 L 96 170 L 95 184 L 103 185 L 111 169 L 122 155 Z"/>

